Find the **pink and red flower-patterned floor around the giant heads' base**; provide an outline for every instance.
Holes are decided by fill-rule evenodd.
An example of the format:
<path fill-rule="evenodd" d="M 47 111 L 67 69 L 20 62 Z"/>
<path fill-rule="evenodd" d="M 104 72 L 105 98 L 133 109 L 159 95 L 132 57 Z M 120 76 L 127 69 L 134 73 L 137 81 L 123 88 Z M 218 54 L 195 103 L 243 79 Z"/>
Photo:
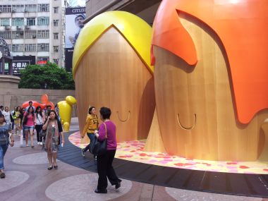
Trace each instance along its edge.
<path fill-rule="evenodd" d="M 73 145 L 83 148 L 86 145 L 81 144 L 80 139 L 79 132 L 73 133 L 69 136 L 69 140 Z M 263 162 L 217 162 L 187 159 L 184 157 L 178 157 L 160 152 L 143 152 L 143 147 L 145 147 L 145 140 L 119 142 L 116 150 L 116 158 L 181 169 L 195 169 L 227 173 L 268 174 L 268 164 Z"/>

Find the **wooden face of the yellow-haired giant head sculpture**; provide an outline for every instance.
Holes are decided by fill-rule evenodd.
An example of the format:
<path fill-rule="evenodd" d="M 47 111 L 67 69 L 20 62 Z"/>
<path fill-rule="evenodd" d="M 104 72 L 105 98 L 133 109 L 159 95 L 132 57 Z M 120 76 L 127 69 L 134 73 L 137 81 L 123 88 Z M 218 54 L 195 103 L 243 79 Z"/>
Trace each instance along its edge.
<path fill-rule="evenodd" d="M 85 53 L 75 74 L 75 88 L 80 130 L 89 105 L 97 110 L 108 106 L 118 141 L 147 138 L 155 108 L 154 80 L 115 28 L 104 32 Z"/>

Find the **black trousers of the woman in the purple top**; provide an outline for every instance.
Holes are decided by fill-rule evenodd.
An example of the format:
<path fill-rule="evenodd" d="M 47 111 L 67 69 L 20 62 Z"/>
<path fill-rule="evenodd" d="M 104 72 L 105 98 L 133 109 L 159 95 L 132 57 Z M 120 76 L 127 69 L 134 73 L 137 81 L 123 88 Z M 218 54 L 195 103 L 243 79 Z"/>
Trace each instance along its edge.
<path fill-rule="evenodd" d="M 98 179 L 98 190 L 105 190 L 107 188 L 108 182 L 107 177 L 111 183 L 111 185 L 116 185 L 116 183 L 121 182 L 116 176 L 116 172 L 112 166 L 114 155 L 116 154 L 116 150 L 107 150 L 106 154 L 102 156 L 98 156 L 97 160 L 97 170 L 99 174 Z"/>

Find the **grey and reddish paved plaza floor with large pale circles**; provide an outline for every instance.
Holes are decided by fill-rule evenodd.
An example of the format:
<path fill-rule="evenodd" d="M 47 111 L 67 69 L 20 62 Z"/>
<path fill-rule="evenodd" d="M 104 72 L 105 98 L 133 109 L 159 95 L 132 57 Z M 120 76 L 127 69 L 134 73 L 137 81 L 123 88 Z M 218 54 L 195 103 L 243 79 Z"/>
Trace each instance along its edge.
<path fill-rule="evenodd" d="M 73 118 L 71 130 L 78 130 L 78 119 Z M 97 173 L 79 169 L 58 161 L 59 169 L 47 170 L 47 154 L 39 145 L 35 148 L 9 147 L 5 157 L 6 178 L 0 179 L 0 200 L 268 200 L 202 193 L 165 188 L 157 185 L 123 180 L 121 188 L 109 185 L 108 193 L 94 193 Z"/>

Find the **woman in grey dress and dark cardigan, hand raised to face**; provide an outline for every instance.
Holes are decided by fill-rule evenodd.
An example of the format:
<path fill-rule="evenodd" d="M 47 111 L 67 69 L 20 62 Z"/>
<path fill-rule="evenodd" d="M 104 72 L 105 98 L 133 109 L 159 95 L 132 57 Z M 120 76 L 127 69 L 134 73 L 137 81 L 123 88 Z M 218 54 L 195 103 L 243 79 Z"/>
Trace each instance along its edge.
<path fill-rule="evenodd" d="M 49 161 L 49 166 L 47 169 L 51 170 L 53 167 L 54 169 L 58 169 L 58 165 L 56 164 L 56 156 L 60 144 L 59 136 L 61 135 L 61 143 L 64 144 L 65 141 L 61 122 L 56 116 L 56 111 L 50 110 L 48 112 L 47 120 L 42 128 L 43 130 L 47 130 L 46 140 L 44 142 L 44 150 L 47 151 L 47 159 Z"/>

